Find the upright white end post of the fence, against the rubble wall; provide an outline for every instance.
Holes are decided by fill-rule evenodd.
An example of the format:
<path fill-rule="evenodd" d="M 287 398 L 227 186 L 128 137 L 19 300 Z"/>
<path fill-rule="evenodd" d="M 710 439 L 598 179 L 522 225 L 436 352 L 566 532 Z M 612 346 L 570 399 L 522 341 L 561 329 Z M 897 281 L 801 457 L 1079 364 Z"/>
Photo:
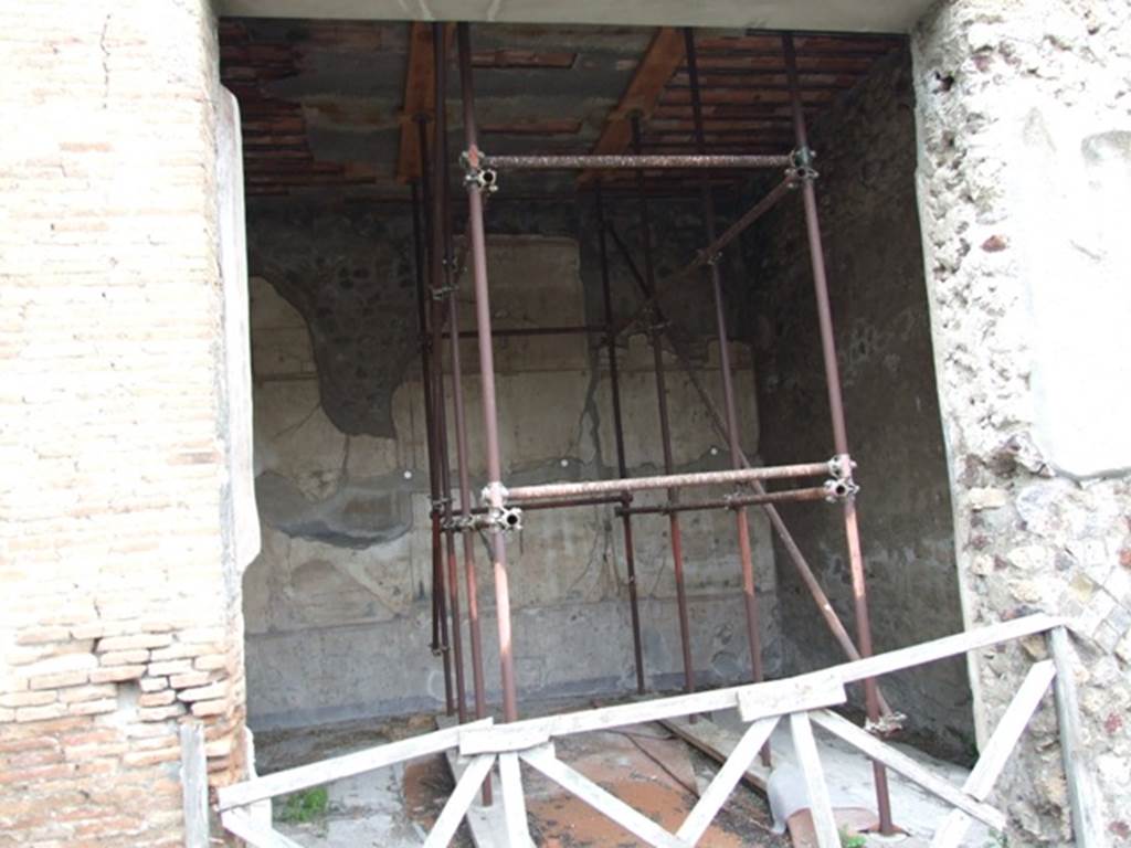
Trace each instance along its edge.
<path fill-rule="evenodd" d="M 1077 848 L 1107 848 L 1111 840 L 1097 817 L 1099 804 L 1096 801 L 1096 785 L 1080 739 L 1080 704 L 1068 630 L 1053 630 L 1048 634 L 1048 647 L 1056 665 L 1056 719 L 1060 724 L 1069 806 L 1072 810 L 1072 836 Z"/>

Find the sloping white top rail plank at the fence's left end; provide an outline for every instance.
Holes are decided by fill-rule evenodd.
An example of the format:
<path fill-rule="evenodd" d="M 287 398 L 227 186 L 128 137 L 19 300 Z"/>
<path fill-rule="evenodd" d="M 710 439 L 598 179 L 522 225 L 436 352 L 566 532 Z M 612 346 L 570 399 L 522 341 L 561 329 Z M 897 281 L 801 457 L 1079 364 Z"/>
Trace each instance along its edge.
<path fill-rule="evenodd" d="M 321 786 L 334 780 L 340 780 L 366 771 L 381 769 L 394 763 L 414 760 L 418 756 L 438 754 L 449 747 L 459 744 L 459 735 L 467 727 L 486 727 L 492 719 L 485 718 L 482 721 L 474 721 L 467 725 L 435 730 L 422 736 L 413 736 L 399 742 L 390 742 L 387 745 L 357 751 L 353 754 L 344 754 L 329 760 L 319 760 L 308 765 L 299 765 L 284 771 L 276 771 L 266 777 L 244 780 L 234 784 L 218 793 L 219 808 L 231 810 L 232 807 L 251 804 L 264 798 L 271 798 L 277 795 L 308 789 L 311 786 Z"/>

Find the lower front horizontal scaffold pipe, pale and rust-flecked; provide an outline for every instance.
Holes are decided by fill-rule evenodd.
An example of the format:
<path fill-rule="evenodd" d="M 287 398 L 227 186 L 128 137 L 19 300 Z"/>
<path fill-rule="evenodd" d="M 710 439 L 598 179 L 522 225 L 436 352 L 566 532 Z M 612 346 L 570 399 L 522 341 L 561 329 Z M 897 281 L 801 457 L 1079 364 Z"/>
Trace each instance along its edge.
<path fill-rule="evenodd" d="M 533 486 L 515 486 L 506 490 L 508 503 L 543 500 L 546 497 L 581 497 L 613 492 L 646 492 L 656 488 L 694 488 L 697 486 L 751 483 L 766 479 L 793 479 L 795 477 L 828 477 L 836 475 L 837 464 L 804 462 L 798 465 L 760 466 L 758 468 L 733 468 L 724 471 L 690 471 L 688 474 L 664 474 L 654 477 L 624 477 L 621 479 L 579 481 L 572 483 L 538 483 Z"/>

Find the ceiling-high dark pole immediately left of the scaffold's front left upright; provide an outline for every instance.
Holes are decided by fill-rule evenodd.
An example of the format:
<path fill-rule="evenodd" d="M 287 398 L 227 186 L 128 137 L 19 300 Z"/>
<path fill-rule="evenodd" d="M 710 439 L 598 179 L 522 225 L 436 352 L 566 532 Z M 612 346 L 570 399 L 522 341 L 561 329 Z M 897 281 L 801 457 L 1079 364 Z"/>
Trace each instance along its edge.
<path fill-rule="evenodd" d="M 448 287 L 450 262 L 447 256 L 444 239 L 444 222 L 447 220 L 447 166 L 444 163 L 443 136 L 447 132 L 447 121 L 443 102 L 447 93 L 448 62 L 446 55 L 447 42 L 443 37 L 443 24 L 432 25 L 432 58 L 435 80 L 435 119 L 432 127 L 435 140 L 432 144 L 432 175 L 435 185 L 432 191 L 432 245 L 435 261 L 432 265 L 432 309 L 435 322 L 432 325 L 432 349 L 435 371 L 435 419 L 437 445 L 440 458 L 440 490 L 443 493 L 444 518 L 448 529 L 444 531 L 446 553 L 448 562 L 447 585 L 449 609 L 451 613 L 451 655 L 456 667 L 456 712 L 463 724 L 467 719 L 467 690 L 464 684 L 464 638 L 463 623 L 459 615 L 459 574 L 456 560 L 456 531 L 451 529 L 455 511 L 451 505 L 451 467 L 448 459 L 448 424 L 447 403 L 443 395 L 443 365 L 440 352 L 443 349 L 443 305 L 442 293 Z"/>

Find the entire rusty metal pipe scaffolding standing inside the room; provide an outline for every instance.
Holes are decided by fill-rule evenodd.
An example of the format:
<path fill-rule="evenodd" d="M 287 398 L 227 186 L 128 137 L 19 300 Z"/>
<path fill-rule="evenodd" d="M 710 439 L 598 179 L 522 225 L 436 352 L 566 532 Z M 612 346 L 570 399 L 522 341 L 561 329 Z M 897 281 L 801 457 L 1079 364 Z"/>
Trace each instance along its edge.
<path fill-rule="evenodd" d="M 465 142 L 460 162 L 464 168 L 463 182 L 467 192 L 468 218 L 466 236 L 470 254 L 469 265 L 475 295 L 476 327 L 474 334 L 464 334 L 459 331 L 456 298 L 458 272 L 454 261 L 452 249 L 452 204 L 448 196 L 451 157 L 447 149 L 444 109 L 448 69 L 447 38 L 444 37 L 443 24 L 433 24 L 432 27 L 435 107 L 431 123 L 433 129 L 432 137 L 435 141 L 431 145 L 432 149 L 429 150 L 429 116 L 418 115 L 416 120 L 422 173 L 418 181 L 413 183 L 413 223 L 417 266 L 418 322 L 422 338 L 424 414 L 428 431 L 428 457 L 432 500 L 432 650 L 442 659 L 446 706 L 449 715 L 456 715 L 460 724 L 469 721 L 473 718 L 475 720 L 486 718 L 483 647 L 473 535 L 485 531 L 490 539 L 494 574 L 503 719 L 507 722 L 515 722 L 519 719 L 513 666 L 507 540 L 511 533 L 521 527 L 524 511 L 532 510 L 615 504 L 614 512 L 620 519 L 623 533 L 636 684 L 640 694 L 644 694 L 646 690 L 645 657 L 640 632 L 632 518 L 641 514 L 666 514 L 668 519 L 671 560 L 675 578 L 683 665 L 683 689 L 687 693 L 692 693 L 696 689 L 680 526 L 680 517 L 689 511 L 727 510 L 734 514 L 742 570 L 746 641 L 751 663 L 750 674 L 754 683 L 760 683 L 763 680 L 763 668 L 762 649 L 759 638 L 753 555 L 748 522 L 748 510 L 750 508 L 759 508 L 765 511 L 788 559 L 796 568 L 802 581 L 812 595 L 821 616 L 848 659 L 855 661 L 871 657 L 873 650 L 867 588 L 864 578 L 855 503 L 858 490 L 854 482 L 855 464 L 849 451 L 847 427 L 845 424 L 840 375 L 837 365 L 832 318 L 829 306 L 828 280 L 821 246 L 821 230 L 814 187 L 818 174 L 813 167 L 813 152 L 809 146 L 793 36 L 789 34 L 782 36 L 782 51 L 785 58 L 795 140 L 795 146 L 789 152 L 780 155 L 725 156 L 710 155 L 707 152 L 694 33 L 691 29 L 685 29 L 683 33 L 684 51 L 697 147 L 697 152 L 693 155 L 647 155 L 642 153 L 640 115 L 637 114 L 630 119 L 633 150 L 631 154 L 490 156 L 481 150 L 478 146 L 475 90 L 472 77 L 470 32 L 467 24 L 457 25 L 458 67 Z M 599 175 L 594 184 L 593 194 L 598 224 L 598 252 L 604 309 L 603 325 L 544 327 L 518 331 L 497 331 L 492 329 L 486 239 L 484 232 L 484 199 L 487 194 L 498 190 L 498 173 L 509 170 L 629 171 L 634 173 L 638 215 L 640 228 L 644 233 L 640 245 L 642 267 L 636 263 L 631 250 L 618 234 L 615 227 L 605 219 Z M 708 396 L 694 373 L 689 357 L 681 349 L 677 339 L 671 334 L 668 322 L 657 300 L 657 282 L 653 263 L 651 223 L 649 218 L 648 194 L 645 185 L 646 170 L 690 171 L 701 175 L 699 197 L 703 224 L 702 237 L 706 246 L 685 267 L 676 271 L 676 277 L 694 279 L 697 275 L 701 275 L 710 280 L 723 387 L 722 412 Z M 720 170 L 770 170 L 784 172 L 782 181 L 722 234 L 717 232 L 710 183 L 711 173 Z M 798 193 L 804 207 L 808 246 L 817 297 L 820 346 L 831 418 L 831 458 L 784 467 L 753 466 L 743 453 L 740 444 L 737 405 L 727 345 L 726 304 L 724 301 L 722 269 L 718 260 L 722 252 L 742 232 L 786 197 Z M 636 280 L 644 298 L 644 308 L 631 321 L 622 323 L 619 327 L 614 326 L 612 311 L 610 241 Z M 624 422 L 621 408 L 616 339 L 620 334 L 630 327 L 638 326 L 642 326 L 646 330 L 654 355 L 657 415 L 664 460 L 664 474 L 651 477 L 630 477 L 624 450 Z M 492 340 L 495 336 L 517 334 L 580 334 L 603 339 L 606 348 L 612 393 L 613 430 L 618 466 L 618 477 L 615 479 L 546 483 L 516 487 L 508 487 L 506 485 L 502 478 Z M 470 486 L 467 419 L 461 384 L 463 363 L 460 361 L 459 344 L 460 338 L 470 335 L 474 335 L 474 338 L 477 340 L 483 432 L 486 448 L 487 485 L 483 490 L 478 502 Z M 441 362 L 444 343 L 447 343 L 448 347 L 451 379 L 452 425 L 455 429 L 456 448 L 455 478 L 459 494 L 458 508 L 450 496 L 452 491 L 452 469 L 447 447 L 448 422 L 446 413 L 444 369 Z M 687 372 L 696 392 L 703 400 L 715 429 L 726 441 L 731 466 L 728 470 L 694 474 L 674 473 L 663 356 L 665 343 L 668 349 L 675 354 L 681 369 Z M 771 479 L 809 481 L 809 483 L 805 485 L 795 484 L 795 487 L 784 491 L 768 492 L 763 483 Z M 732 494 L 723 499 L 687 502 L 681 500 L 683 490 L 718 484 L 733 484 L 735 490 Z M 666 502 L 661 505 L 633 505 L 633 492 L 650 490 L 666 492 Z M 844 623 L 837 616 L 828 596 L 802 554 L 800 546 L 776 509 L 777 503 L 789 501 L 830 502 L 838 504 L 843 510 L 856 624 L 855 640 L 849 635 Z M 470 642 L 470 689 L 474 701 L 470 708 L 467 704 L 467 683 L 465 680 L 457 535 L 461 537 L 463 543 L 464 581 Z M 886 703 L 875 678 L 866 676 L 862 678 L 862 683 L 870 729 L 880 734 L 898 729 L 901 717 L 893 712 Z M 768 756 L 768 750 L 763 750 L 762 754 L 763 758 Z M 887 773 L 884 765 L 879 760 L 873 760 L 873 775 L 881 831 L 892 833 L 895 829 L 891 820 Z M 486 787 L 489 789 L 490 784 Z M 490 801 L 490 798 L 485 797 L 485 801 Z"/>

